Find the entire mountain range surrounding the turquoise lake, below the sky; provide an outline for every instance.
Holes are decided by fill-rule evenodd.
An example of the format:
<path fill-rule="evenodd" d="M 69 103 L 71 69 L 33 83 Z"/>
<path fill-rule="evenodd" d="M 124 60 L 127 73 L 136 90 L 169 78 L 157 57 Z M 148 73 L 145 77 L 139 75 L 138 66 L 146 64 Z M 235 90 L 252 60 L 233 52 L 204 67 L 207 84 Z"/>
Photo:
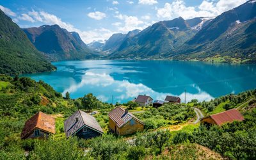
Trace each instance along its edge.
<path fill-rule="evenodd" d="M 255 0 L 218 17 L 164 20 L 88 45 L 58 25 L 20 29 L 1 10 L 0 20 L 0 74 L 54 70 L 45 58 L 256 62 Z"/>

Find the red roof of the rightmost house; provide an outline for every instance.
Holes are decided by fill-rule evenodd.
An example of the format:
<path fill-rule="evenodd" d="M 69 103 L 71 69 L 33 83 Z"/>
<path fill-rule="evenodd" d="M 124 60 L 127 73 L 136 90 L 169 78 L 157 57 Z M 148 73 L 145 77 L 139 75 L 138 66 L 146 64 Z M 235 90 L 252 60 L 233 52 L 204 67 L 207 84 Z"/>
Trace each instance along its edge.
<path fill-rule="evenodd" d="M 209 116 L 207 116 L 207 117 L 209 117 Z M 207 118 L 207 117 L 205 117 L 205 118 Z M 226 122 L 233 122 L 235 120 L 237 120 L 237 121 L 244 120 L 244 116 L 236 109 L 230 109 L 228 111 L 223 111 L 221 113 L 211 115 L 210 117 L 212 118 L 212 120 L 214 120 L 214 122 L 216 122 L 217 125 L 221 125 Z"/>

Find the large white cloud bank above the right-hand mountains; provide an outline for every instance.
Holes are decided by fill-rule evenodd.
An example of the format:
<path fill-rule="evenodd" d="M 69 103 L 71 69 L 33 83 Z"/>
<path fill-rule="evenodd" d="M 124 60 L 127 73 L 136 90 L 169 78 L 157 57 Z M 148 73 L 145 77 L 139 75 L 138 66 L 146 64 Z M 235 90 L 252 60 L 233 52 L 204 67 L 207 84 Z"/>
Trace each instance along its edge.
<path fill-rule="evenodd" d="M 183 0 L 175 0 L 172 3 L 165 3 L 163 8 L 156 8 L 156 10 L 157 17 L 161 19 L 174 19 L 177 17 L 184 19 L 191 19 L 193 17 L 214 17 L 245 2 L 246 0 L 220 0 L 214 3 L 204 0 L 198 7 L 194 7 L 186 6 Z"/>

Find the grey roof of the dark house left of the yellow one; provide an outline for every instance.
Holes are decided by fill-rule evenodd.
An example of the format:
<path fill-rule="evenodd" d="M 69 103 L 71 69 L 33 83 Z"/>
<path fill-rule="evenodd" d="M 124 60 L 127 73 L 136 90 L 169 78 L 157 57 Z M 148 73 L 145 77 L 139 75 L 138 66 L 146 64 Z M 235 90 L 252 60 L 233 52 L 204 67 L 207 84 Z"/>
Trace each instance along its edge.
<path fill-rule="evenodd" d="M 76 117 L 78 117 L 78 122 L 76 122 Z M 84 125 L 94 131 L 103 133 L 102 128 L 93 116 L 85 113 L 84 111 L 78 110 L 73 115 L 68 117 L 64 122 L 64 130 L 66 136 L 72 136 Z"/>

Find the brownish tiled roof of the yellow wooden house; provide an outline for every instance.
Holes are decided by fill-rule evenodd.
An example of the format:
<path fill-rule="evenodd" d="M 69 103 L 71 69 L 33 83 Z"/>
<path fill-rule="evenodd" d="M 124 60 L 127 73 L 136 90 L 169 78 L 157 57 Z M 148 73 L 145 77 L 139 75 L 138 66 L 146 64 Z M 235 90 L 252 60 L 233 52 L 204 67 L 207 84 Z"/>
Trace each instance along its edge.
<path fill-rule="evenodd" d="M 116 107 L 111 112 L 109 112 L 108 115 L 109 118 L 111 118 L 111 120 L 115 122 L 117 127 L 122 127 L 123 125 L 127 124 L 127 122 L 129 122 L 132 118 L 143 124 L 143 122 L 141 122 L 141 120 L 139 120 L 136 116 L 132 115 L 132 113 L 125 114 L 125 109 L 121 107 Z"/>

